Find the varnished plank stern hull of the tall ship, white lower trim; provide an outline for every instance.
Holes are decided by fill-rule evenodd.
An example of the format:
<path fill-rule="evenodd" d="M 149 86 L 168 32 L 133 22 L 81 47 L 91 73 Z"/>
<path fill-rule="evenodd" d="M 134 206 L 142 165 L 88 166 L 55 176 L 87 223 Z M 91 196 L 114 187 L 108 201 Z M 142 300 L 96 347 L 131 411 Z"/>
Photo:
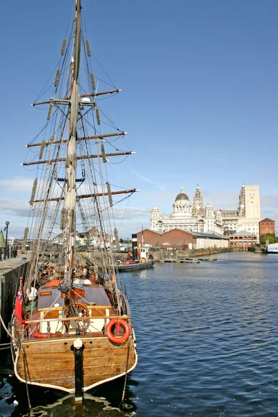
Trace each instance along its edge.
<path fill-rule="evenodd" d="M 67 393 L 75 391 L 75 338 L 45 339 L 22 343 L 23 350 L 13 350 L 15 375 L 22 382 Z M 106 336 L 81 337 L 83 342 L 83 391 L 122 377 L 136 367 L 138 355 L 133 337 L 118 345 Z"/>

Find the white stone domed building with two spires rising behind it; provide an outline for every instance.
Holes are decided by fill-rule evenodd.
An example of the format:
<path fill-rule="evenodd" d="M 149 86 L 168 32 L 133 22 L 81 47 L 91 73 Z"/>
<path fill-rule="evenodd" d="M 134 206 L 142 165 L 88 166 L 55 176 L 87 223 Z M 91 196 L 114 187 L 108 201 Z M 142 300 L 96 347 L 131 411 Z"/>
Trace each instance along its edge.
<path fill-rule="evenodd" d="M 218 215 L 215 215 L 213 207 L 209 203 L 204 208 L 199 186 L 195 191 L 193 205 L 181 187 L 172 207 L 172 213 L 169 216 L 161 216 L 158 207 L 154 205 L 151 211 L 151 230 L 163 232 L 181 229 L 193 232 L 217 231 L 222 233 L 221 212 L 217 212 Z"/>

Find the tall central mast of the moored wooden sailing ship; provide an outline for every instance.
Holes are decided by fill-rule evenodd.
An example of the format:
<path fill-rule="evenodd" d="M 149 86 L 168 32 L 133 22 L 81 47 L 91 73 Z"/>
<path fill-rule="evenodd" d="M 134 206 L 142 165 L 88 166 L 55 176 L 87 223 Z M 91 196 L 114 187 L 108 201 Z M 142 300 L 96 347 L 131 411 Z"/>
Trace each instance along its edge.
<path fill-rule="evenodd" d="M 65 203 L 67 208 L 66 252 L 65 252 L 65 281 L 69 286 L 72 282 L 74 266 L 74 243 L 76 236 L 76 138 L 77 120 L 79 115 L 79 66 L 81 55 L 81 0 L 75 3 L 74 56 L 72 57 L 72 82 L 70 97 L 70 136 L 67 143 L 67 193 Z"/>

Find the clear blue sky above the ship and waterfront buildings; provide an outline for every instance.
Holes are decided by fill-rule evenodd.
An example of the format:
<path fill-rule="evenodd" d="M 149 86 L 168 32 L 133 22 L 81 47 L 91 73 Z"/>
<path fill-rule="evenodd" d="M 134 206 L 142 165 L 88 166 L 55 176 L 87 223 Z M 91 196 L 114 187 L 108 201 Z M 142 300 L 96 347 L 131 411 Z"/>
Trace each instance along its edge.
<path fill-rule="evenodd" d="M 58 61 L 72 3 L 1 9 L 0 228 L 9 220 L 14 236 L 34 179 L 19 166 L 24 145 L 46 118 L 30 104 Z M 197 183 L 215 209 L 236 209 L 241 184 L 259 184 L 261 216 L 278 223 L 277 1 L 83 0 L 83 13 L 93 54 L 122 88 L 105 111 L 137 152 L 111 167 L 120 185 L 142 189 L 120 236 L 149 227 L 154 204 L 169 214 L 181 185 L 192 202 Z"/>

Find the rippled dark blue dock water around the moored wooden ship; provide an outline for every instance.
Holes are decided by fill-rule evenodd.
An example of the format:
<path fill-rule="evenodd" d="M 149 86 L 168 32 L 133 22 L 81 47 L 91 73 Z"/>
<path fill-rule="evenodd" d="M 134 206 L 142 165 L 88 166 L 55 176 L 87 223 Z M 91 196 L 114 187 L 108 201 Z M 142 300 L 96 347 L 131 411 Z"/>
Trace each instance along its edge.
<path fill-rule="evenodd" d="M 71 396 L 31 387 L 32 415 L 277 417 L 278 256 L 217 258 L 122 275 L 139 353 L 124 409 L 117 381 L 90 391 L 79 410 Z M 0 416 L 22 416 L 25 386 L 8 376 L 5 352 Z"/>

